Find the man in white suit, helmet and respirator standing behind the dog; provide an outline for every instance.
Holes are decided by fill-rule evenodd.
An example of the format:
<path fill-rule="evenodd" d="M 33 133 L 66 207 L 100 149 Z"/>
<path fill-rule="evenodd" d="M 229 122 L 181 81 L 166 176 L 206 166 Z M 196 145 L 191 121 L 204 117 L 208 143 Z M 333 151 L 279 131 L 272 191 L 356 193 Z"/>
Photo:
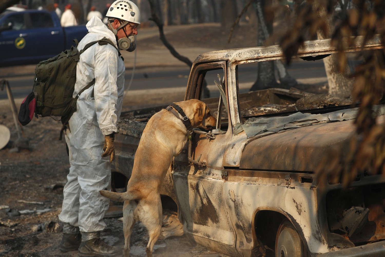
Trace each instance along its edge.
<path fill-rule="evenodd" d="M 79 50 L 104 37 L 114 45 L 96 43 L 80 55 L 73 97 L 89 82 L 95 82 L 80 94 L 65 130 L 70 170 L 59 215 L 64 223 L 59 249 L 78 250 L 79 256 L 122 253 L 121 247 L 109 246 L 100 239 L 100 232 L 106 227 L 103 217 L 109 199 L 100 195 L 99 190 L 110 189 L 114 133 L 122 109 L 125 67 L 117 48 L 129 52 L 135 49 L 140 12 L 133 2 L 117 0 L 107 17 L 108 25 L 92 17 L 86 25 L 89 33 L 79 42 Z"/>

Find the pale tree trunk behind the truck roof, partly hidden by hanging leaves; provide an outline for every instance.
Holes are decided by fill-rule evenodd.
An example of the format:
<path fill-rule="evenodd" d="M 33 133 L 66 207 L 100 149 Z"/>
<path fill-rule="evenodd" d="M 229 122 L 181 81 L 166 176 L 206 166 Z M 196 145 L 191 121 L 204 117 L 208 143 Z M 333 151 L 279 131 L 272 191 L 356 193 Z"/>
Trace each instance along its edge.
<path fill-rule="evenodd" d="M 317 2 L 315 2 L 317 3 Z M 343 5 L 342 8 L 346 6 Z M 329 35 L 323 35 L 320 30 L 317 31 L 318 39 L 330 38 L 333 33 L 333 17 L 328 16 L 325 10 L 325 6 L 321 3 L 313 5 L 315 12 L 328 24 Z M 328 78 L 329 94 L 338 97 L 349 98 L 352 94 L 353 79 L 347 79 L 347 77 L 339 71 L 338 59 L 336 54 L 332 54 L 323 59 L 323 65 L 325 66 L 326 77 Z M 346 66 L 345 74 L 349 74 L 348 66 Z"/>

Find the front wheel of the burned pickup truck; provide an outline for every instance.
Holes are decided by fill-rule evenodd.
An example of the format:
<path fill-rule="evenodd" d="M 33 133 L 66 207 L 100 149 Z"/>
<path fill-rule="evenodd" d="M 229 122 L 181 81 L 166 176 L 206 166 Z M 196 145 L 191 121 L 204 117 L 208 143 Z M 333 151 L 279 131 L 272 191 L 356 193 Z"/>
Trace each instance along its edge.
<path fill-rule="evenodd" d="M 285 219 L 278 228 L 275 240 L 276 257 L 305 257 L 303 242 L 297 230 L 288 219 Z"/>

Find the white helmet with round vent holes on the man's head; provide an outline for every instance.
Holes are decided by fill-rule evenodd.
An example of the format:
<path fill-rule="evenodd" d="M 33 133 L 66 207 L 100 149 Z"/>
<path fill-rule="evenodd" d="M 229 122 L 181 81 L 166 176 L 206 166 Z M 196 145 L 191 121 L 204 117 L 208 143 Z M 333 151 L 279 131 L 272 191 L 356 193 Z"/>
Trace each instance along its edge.
<path fill-rule="evenodd" d="M 141 12 L 139 8 L 129 0 L 117 0 L 112 3 L 105 16 L 137 24 L 141 23 Z"/>

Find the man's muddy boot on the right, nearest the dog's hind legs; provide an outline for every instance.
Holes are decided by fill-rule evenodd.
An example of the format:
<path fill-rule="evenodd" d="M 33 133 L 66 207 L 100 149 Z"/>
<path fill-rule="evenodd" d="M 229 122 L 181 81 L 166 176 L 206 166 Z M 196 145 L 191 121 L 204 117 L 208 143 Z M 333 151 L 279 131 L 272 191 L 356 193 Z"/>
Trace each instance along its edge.
<path fill-rule="evenodd" d="M 100 232 L 82 232 L 82 243 L 79 247 L 80 257 L 110 257 L 122 254 L 121 247 L 109 246 L 99 236 Z"/>

